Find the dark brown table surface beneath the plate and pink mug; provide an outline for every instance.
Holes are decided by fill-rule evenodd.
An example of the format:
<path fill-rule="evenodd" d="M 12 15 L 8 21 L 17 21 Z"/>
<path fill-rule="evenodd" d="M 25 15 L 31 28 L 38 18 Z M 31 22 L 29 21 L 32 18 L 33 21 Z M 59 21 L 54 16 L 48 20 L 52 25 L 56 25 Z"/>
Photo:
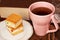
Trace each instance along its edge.
<path fill-rule="evenodd" d="M 0 17 L 0 21 L 3 21 L 3 20 L 5 20 L 5 18 L 1 18 Z M 32 22 L 30 20 L 28 20 L 28 22 L 30 22 L 32 24 Z M 51 25 L 50 29 L 54 29 L 54 26 Z M 32 35 L 32 37 L 29 40 L 57 40 L 57 39 L 55 37 L 55 33 L 49 33 L 49 34 L 41 37 L 41 36 L 37 36 L 35 34 L 35 31 L 33 31 L 33 35 Z"/>

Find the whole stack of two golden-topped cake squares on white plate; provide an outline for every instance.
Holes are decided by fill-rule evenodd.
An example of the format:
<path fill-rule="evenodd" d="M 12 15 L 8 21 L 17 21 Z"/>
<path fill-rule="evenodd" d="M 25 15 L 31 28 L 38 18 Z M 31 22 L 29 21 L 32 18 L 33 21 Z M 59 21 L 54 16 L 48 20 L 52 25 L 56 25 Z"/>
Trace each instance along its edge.
<path fill-rule="evenodd" d="M 11 14 L 5 20 L 7 29 L 12 35 L 17 35 L 23 32 L 22 17 L 17 14 Z"/>

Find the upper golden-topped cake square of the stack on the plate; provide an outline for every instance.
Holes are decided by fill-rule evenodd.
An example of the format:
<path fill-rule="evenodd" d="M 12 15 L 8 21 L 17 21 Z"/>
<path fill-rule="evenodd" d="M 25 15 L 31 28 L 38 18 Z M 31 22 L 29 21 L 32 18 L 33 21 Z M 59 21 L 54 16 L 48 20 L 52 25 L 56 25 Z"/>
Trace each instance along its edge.
<path fill-rule="evenodd" d="M 17 14 L 11 14 L 6 19 L 6 24 L 9 27 L 17 28 L 22 23 L 22 17 Z"/>

